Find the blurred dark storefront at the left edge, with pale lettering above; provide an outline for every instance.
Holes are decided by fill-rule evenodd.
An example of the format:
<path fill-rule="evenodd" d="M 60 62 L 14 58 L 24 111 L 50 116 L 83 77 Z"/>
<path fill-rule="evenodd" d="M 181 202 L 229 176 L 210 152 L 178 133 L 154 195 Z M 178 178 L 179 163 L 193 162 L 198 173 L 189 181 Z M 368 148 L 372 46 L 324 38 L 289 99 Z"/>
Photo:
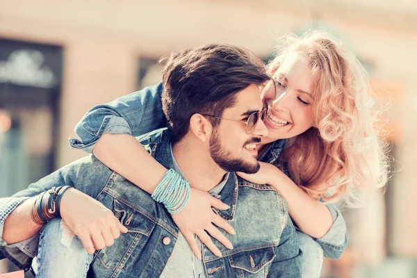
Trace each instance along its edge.
<path fill-rule="evenodd" d="M 54 170 L 62 48 L 0 39 L 0 197 Z"/>

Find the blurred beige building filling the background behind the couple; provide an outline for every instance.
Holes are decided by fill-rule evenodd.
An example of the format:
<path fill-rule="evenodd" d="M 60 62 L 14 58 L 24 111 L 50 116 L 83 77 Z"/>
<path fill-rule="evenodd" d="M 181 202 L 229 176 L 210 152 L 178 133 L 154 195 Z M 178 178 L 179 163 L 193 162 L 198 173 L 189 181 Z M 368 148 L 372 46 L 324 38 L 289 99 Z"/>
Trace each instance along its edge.
<path fill-rule="evenodd" d="M 284 31 L 332 28 L 366 63 L 386 112 L 395 173 L 346 211 L 349 248 L 323 277 L 417 275 L 417 2 L 389 0 L 0 0 L 0 197 L 85 154 L 68 145 L 89 108 L 159 80 L 172 50 L 223 42 L 269 56 Z M 414 99 L 414 100 L 413 100 Z"/>

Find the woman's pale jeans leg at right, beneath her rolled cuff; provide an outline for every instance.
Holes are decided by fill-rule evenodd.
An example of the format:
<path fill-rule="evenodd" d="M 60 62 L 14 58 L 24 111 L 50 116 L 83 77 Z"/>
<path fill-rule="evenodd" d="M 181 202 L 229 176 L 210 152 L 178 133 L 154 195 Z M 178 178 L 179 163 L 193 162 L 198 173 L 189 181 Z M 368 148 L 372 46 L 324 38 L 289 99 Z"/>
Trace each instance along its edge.
<path fill-rule="evenodd" d="M 302 250 L 302 277 L 320 277 L 323 264 L 322 247 L 311 236 L 298 230 L 297 237 Z"/>

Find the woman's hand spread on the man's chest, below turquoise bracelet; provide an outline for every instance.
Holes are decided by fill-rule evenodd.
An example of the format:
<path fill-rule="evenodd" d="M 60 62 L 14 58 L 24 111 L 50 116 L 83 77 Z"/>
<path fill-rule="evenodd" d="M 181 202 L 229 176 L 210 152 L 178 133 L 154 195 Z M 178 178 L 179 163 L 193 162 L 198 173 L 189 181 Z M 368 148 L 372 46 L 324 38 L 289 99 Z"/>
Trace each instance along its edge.
<path fill-rule="evenodd" d="M 227 231 L 229 234 L 236 233 L 233 227 L 231 227 L 231 224 L 213 211 L 211 208 L 212 206 L 219 210 L 229 208 L 227 204 L 224 204 L 210 194 L 191 188 L 190 199 L 188 199 L 186 206 L 179 213 L 172 215 L 172 219 L 179 227 L 179 230 L 188 241 L 191 250 L 193 250 L 193 253 L 198 259 L 202 258 L 202 253 L 195 240 L 195 234 L 202 240 L 208 249 L 217 256 L 222 256 L 222 253 L 218 247 L 214 245 L 208 234 L 211 234 L 213 238 L 219 240 L 222 245 L 229 249 L 233 249 L 230 240 L 228 240 L 215 225 L 224 229 L 224 231 Z"/>

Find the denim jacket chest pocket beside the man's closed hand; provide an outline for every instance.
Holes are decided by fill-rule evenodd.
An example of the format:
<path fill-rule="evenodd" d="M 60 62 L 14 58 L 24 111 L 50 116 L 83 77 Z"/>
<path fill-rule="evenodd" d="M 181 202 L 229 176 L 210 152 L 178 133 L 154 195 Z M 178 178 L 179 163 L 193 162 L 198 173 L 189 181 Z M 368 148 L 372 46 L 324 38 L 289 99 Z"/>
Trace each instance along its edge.
<path fill-rule="evenodd" d="M 98 259 L 106 268 L 126 270 L 140 256 L 155 223 L 109 195 L 101 199 L 101 202 L 106 206 L 111 204 L 108 208 L 129 231 L 126 234 L 121 233 L 113 245 L 100 250 Z"/>

